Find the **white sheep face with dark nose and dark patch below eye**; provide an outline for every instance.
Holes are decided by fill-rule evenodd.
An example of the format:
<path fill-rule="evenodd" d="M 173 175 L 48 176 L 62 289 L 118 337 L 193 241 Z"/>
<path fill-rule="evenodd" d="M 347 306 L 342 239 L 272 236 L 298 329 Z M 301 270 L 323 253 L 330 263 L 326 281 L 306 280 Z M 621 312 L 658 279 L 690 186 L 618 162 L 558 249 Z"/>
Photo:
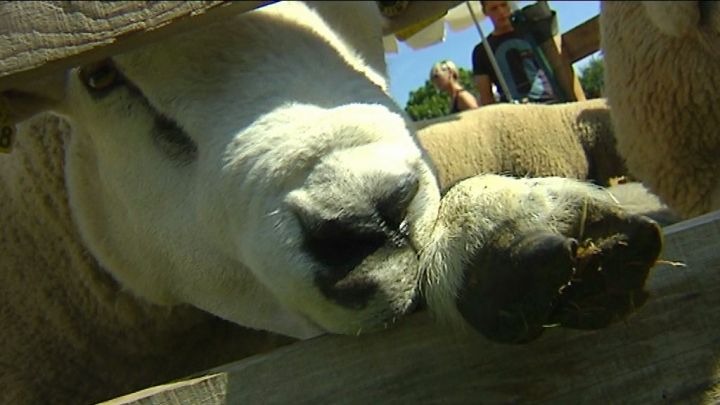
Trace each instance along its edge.
<path fill-rule="evenodd" d="M 282 2 L 70 72 L 73 213 L 128 289 L 297 337 L 412 309 L 439 192 L 374 2 L 342 7 L 364 21 Z"/>

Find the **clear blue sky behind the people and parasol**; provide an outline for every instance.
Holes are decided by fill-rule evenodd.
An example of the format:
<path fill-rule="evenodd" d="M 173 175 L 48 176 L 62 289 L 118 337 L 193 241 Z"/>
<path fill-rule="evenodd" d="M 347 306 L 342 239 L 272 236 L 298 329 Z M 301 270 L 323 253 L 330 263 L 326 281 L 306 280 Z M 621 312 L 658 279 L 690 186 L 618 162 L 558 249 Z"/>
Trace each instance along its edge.
<path fill-rule="evenodd" d="M 518 6 L 523 7 L 532 3 L 534 2 L 519 1 Z M 548 4 L 557 12 L 558 27 L 561 33 L 569 31 L 600 12 L 599 1 L 549 1 Z M 485 35 L 492 32 L 492 23 L 489 18 L 484 18 L 480 22 L 480 27 Z M 435 62 L 450 59 L 458 67 L 472 69 L 470 61 L 472 50 L 480 42 L 480 35 L 475 26 L 461 32 L 453 32 L 449 28 L 446 28 L 445 31 L 445 41 L 442 43 L 413 50 L 400 42 L 398 53 L 385 55 L 390 75 L 390 94 L 400 106 L 405 107 L 410 91 L 425 83 L 430 68 Z M 594 55 L 576 62 L 575 71 L 580 72 Z"/>

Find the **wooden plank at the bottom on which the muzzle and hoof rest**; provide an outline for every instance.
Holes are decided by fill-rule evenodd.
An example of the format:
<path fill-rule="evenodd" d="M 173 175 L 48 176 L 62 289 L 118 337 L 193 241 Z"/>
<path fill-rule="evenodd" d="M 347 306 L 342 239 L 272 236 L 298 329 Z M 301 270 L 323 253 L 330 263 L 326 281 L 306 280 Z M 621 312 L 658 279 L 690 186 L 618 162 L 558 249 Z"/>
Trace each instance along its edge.
<path fill-rule="evenodd" d="M 323 336 L 211 370 L 226 380 L 209 394 L 161 386 L 109 403 L 717 403 L 720 212 L 666 228 L 665 242 L 662 257 L 687 267 L 658 265 L 649 302 L 602 331 L 554 328 L 506 346 L 419 313 L 383 333 Z"/>

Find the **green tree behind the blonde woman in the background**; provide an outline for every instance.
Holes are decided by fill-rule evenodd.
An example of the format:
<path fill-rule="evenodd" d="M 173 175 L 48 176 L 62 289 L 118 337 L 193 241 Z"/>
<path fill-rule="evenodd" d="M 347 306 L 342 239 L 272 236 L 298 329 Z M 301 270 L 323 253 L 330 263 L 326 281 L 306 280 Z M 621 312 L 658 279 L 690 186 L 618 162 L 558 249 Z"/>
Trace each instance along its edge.
<path fill-rule="evenodd" d="M 479 99 L 472 84 L 472 72 L 463 68 L 458 68 L 458 70 L 460 71 L 460 83 Z M 450 96 L 436 89 L 428 79 L 421 87 L 410 92 L 405 111 L 413 121 L 442 117 L 448 115 L 450 111 Z"/>

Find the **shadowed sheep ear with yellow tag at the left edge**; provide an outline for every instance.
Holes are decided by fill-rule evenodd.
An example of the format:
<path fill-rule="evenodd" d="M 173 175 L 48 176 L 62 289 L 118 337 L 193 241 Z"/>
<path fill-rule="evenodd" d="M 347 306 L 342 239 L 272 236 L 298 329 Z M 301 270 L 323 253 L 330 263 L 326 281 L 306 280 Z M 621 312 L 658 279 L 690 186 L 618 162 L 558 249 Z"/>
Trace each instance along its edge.
<path fill-rule="evenodd" d="M 0 91 L 0 153 L 11 151 L 17 123 L 55 109 L 65 98 L 65 77 L 51 75 Z"/>

